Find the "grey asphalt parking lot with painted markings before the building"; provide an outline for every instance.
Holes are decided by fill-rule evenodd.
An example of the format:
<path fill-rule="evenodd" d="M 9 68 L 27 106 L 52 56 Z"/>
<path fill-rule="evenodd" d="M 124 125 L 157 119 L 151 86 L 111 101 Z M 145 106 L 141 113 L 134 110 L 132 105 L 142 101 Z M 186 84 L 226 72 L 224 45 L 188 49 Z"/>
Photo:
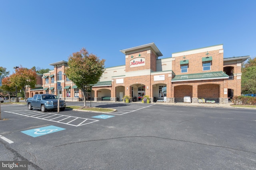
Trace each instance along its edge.
<path fill-rule="evenodd" d="M 67 106 L 80 104 L 67 102 Z M 32 170 L 256 167 L 255 110 L 123 102 L 92 105 L 117 111 L 48 111 L 52 120 L 56 117 L 49 121 L 38 110 L 1 105 L 0 135 L 12 143 L 0 139 L 0 160 L 26 160 Z M 72 117 L 97 121 L 67 124 L 78 120 Z M 58 122 L 65 120 L 66 124 Z"/>

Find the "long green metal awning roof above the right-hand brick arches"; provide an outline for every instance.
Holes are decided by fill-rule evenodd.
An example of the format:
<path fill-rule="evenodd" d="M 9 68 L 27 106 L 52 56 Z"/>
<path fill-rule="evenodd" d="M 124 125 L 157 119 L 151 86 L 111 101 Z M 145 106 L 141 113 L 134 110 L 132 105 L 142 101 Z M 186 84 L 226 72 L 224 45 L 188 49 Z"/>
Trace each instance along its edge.
<path fill-rule="evenodd" d="M 196 74 L 182 74 L 182 75 L 175 75 L 175 77 L 172 79 L 172 82 L 214 80 L 214 79 L 225 79 L 228 77 L 229 76 L 222 71 L 196 73 Z"/>

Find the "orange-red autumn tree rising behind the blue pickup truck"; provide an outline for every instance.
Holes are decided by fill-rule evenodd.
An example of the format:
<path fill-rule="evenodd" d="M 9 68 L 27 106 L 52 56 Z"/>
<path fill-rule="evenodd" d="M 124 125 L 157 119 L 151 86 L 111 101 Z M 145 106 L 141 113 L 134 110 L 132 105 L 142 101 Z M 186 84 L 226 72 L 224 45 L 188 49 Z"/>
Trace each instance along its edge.
<path fill-rule="evenodd" d="M 16 68 L 15 74 L 10 76 L 10 80 L 17 86 L 22 88 L 24 91 L 24 96 L 30 88 L 36 86 L 36 71 L 33 69 L 28 69 L 20 66 Z M 25 102 L 27 102 L 25 97 Z"/>

